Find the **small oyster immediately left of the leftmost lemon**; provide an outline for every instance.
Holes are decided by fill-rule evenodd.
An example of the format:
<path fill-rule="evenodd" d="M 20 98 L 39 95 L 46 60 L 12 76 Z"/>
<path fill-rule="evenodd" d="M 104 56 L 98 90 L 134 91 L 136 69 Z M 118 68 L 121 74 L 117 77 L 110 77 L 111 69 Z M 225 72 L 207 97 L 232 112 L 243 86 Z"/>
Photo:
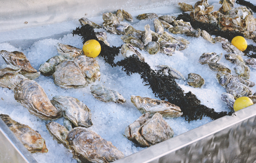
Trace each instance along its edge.
<path fill-rule="evenodd" d="M 82 54 L 81 49 L 78 49 L 74 46 L 60 44 L 60 43 L 58 43 L 57 51 L 58 51 L 58 54 L 64 56 L 68 60 L 72 60 L 76 56 L 79 56 Z"/>

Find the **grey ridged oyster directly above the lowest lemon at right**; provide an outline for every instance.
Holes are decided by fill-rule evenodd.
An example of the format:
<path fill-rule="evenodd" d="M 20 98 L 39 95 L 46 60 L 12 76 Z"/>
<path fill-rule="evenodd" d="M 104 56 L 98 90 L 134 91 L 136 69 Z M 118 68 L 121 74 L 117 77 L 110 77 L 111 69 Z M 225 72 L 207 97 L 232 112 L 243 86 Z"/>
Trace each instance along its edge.
<path fill-rule="evenodd" d="M 227 93 L 232 94 L 235 99 L 252 94 L 252 89 L 242 83 L 237 83 L 235 81 L 230 81 L 230 83 L 228 83 L 226 86 L 226 91 Z"/>

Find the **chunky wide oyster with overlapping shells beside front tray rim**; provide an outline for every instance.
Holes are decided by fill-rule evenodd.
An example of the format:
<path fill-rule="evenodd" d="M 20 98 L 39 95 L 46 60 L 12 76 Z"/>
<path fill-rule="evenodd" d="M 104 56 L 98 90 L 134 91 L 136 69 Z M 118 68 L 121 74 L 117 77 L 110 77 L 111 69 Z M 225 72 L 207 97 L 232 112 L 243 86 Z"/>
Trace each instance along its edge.
<path fill-rule="evenodd" d="M 173 137 L 172 128 L 164 121 L 161 114 L 155 113 L 150 119 L 149 116 L 149 113 L 143 114 L 126 127 L 125 137 L 142 147 L 149 147 Z"/>

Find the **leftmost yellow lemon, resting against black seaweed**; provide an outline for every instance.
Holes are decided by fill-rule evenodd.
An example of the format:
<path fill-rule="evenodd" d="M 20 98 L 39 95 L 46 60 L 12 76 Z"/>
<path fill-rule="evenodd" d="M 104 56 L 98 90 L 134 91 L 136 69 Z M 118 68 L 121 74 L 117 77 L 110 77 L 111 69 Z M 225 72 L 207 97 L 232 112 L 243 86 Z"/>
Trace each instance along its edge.
<path fill-rule="evenodd" d="M 84 43 L 82 50 L 84 55 L 95 58 L 100 54 L 100 43 L 97 40 L 88 40 Z"/>

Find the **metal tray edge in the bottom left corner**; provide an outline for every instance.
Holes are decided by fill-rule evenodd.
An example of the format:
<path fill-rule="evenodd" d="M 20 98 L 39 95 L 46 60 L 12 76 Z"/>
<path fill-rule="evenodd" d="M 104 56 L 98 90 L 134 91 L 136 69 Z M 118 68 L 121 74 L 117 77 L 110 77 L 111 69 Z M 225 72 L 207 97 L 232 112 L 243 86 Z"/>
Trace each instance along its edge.
<path fill-rule="evenodd" d="M 1 118 L 0 163 L 37 163 Z"/>

